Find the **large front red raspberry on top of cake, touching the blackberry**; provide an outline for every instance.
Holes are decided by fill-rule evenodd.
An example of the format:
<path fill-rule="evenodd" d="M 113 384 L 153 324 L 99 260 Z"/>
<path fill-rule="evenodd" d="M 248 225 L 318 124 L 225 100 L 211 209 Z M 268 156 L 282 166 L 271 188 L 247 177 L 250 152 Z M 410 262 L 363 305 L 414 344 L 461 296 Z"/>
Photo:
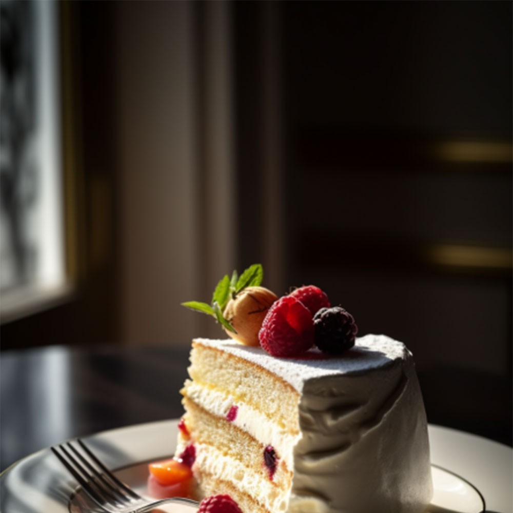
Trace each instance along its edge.
<path fill-rule="evenodd" d="M 274 302 L 259 331 L 260 345 L 272 356 L 292 357 L 314 342 L 313 320 L 301 301 L 285 295 Z"/>

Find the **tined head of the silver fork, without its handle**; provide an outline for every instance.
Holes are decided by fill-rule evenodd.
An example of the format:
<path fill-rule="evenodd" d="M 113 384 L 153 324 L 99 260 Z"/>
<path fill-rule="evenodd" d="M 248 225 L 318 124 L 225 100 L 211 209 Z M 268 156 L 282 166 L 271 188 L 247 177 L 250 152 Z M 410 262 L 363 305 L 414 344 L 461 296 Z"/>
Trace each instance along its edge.
<path fill-rule="evenodd" d="M 51 449 L 78 484 L 98 505 L 104 508 L 106 506 L 126 508 L 142 499 L 125 483 L 117 479 L 94 456 L 82 440 L 70 440 L 53 446 Z"/>

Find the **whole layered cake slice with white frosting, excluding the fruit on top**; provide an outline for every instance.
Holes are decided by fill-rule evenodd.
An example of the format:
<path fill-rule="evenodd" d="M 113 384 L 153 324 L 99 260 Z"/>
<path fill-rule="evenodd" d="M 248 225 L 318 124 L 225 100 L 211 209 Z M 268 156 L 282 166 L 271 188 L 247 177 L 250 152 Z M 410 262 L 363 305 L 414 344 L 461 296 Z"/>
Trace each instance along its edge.
<path fill-rule="evenodd" d="M 421 513 L 432 495 L 411 353 L 367 335 L 341 356 L 193 341 L 176 455 L 200 496 L 244 513 Z"/>

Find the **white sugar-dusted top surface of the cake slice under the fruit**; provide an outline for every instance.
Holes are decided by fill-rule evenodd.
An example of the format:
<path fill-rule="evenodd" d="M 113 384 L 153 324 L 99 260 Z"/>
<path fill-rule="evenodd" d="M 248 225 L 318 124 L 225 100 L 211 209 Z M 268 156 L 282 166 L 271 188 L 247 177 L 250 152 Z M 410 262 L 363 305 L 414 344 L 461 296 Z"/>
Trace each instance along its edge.
<path fill-rule="evenodd" d="M 383 368 L 396 360 L 406 360 L 411 356 L 402 342 L 386 335 L 374 334 L 357 338 L 354 347 L 340 357 L 326 357 L 321 351 L 310 349 L 302 358 L 277 358 L 260 347 L 244 346 L 233 340 L 195 339 L 194 341 L 260 365 L 280 376 L 299 392 L 309 380 L 361 374 L 372 369 Z"/>

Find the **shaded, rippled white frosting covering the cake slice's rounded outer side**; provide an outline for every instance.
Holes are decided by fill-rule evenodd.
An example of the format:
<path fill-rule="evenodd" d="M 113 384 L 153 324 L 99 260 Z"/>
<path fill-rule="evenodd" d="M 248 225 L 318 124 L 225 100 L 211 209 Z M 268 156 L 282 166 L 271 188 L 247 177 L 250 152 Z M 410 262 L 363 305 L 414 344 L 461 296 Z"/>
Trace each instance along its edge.
<path fill-rule="evenodd" d="M 293 493 L 310 505 L 295 497 L 291 511 L 424 511 L 432 495 L 429 445 L 411 359 L 307 383 L 299 416 Z"/>

